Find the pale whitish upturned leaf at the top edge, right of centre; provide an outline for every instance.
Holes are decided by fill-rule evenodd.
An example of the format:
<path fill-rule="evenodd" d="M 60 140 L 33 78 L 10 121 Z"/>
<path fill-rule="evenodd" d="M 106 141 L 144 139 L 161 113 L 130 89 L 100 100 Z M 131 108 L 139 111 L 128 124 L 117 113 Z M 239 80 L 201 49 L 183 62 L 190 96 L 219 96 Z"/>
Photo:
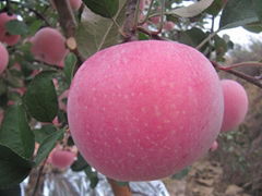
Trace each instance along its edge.
<path fill-rule="evenodd" d="M 179 15 L 181 17 L 193 17 L 201 14 L 205 9 L 207 9 L 214 0 L 201 0 L 189 7 L 182 7 L 172 10 L 170 13 Z"/>

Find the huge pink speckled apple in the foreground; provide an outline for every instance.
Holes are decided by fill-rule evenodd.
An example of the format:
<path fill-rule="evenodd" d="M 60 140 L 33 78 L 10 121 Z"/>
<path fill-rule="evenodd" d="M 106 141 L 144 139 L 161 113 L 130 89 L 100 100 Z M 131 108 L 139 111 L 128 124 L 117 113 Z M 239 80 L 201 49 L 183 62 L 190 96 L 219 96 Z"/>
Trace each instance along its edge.
<path fill-rule="evenodd" d="M 223 120 L 210 61 L 178 42 L 146 40 L 95 53 L 76 72 L 68 120 L 85 160 L 108 177 L 151 181 L 209 151 Z"/>

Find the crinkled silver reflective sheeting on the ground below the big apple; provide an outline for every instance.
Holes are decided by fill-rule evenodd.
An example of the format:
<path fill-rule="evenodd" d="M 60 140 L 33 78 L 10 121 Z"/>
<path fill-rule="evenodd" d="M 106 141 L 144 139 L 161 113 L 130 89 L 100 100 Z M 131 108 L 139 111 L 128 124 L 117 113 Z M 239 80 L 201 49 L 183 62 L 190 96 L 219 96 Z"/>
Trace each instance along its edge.
<path fill-rule="evenodd" d="M 114 196 L 110 185 L 105 175 L 98 174 L 99 182 L 95 188 L 84 172 L 48 173 L 44 182 L 44 196 Z M 22 192 L 27 185 L 25 180 L 22 184 Z M 132 196 L 169 196 L 162 181 L 130 182 Z M 22 193 L 22 196 L 24 193 Z"/>

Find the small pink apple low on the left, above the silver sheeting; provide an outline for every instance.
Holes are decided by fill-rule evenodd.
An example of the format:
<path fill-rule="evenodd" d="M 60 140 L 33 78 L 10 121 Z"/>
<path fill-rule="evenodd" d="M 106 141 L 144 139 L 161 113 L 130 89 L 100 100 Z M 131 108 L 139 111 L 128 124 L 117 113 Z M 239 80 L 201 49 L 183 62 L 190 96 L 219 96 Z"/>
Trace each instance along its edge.
<path fill-rule="evenodd" d="M 72 151 L 55 149 L 50 154 L 49 162 L 59 169 L 66 169 L 73 163 L 75 157 L 75 154 Z"/>

